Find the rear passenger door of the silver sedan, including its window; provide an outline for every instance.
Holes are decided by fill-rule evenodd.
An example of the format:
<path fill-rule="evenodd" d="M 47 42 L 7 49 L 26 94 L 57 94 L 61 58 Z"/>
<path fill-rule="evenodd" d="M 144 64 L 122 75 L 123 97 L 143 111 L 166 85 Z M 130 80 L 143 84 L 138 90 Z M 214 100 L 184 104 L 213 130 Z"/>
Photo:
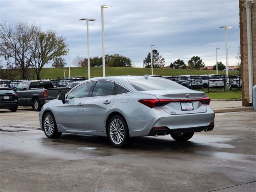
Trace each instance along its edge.
<path fill-rule="evenodd" d="M 84 126 L 86 131 L 104 131 L 104 122 L 116 95 L 114 82 L 99 80 L 85 102 Z"/>

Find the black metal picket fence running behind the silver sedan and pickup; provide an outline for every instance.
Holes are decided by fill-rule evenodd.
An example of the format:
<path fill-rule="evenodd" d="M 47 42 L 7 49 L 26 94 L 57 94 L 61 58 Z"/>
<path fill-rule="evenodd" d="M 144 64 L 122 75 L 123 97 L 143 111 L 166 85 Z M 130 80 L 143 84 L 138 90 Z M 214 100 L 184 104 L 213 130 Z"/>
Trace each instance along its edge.
<path fill-rule="evenodd" d="M 211 92 L 238 92 L 241 91 L 242 81 L 240 75 L 180 75 L 180 76 L 162 76 L 193 90 L 206 93 Z M 66 77 L 50 78 L 42 80 L 51 80 L 54 87 L 65 87 L 76 81 L 87 80 L 86 77 Z M 34 79 L 29 79 L 34 80 Z M 24 80 L 0 80 L 0 86 L 8 86 L 15 89 L 16 86 Z"/>

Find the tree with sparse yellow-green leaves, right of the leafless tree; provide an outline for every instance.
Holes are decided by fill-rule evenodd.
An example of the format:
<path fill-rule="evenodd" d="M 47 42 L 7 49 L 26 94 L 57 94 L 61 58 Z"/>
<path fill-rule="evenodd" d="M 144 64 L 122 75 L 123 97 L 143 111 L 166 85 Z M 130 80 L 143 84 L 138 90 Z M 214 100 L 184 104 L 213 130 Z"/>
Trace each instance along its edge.
<path fill-rule="evenodd" d="M 64 36 L 58 36 L 56 31 L 42 32 L 40 28 L 33 34 L 31 66 L 37 79 L 40 79 L 40 72 L 46 63 L 67 53 L 65 39 Z"/>

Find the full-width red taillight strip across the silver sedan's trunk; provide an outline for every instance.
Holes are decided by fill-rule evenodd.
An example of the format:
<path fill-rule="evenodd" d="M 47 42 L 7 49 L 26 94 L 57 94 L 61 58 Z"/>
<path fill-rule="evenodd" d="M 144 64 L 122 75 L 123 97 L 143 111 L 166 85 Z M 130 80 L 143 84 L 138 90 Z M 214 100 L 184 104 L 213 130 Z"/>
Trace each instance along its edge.
<path fill-rule="evenodd" d="M 209 97 L 204 97 L 204 98 L 190 98 L 190 99 L 140 99 L 138 100 L 138 102 L 150 108 L 165 106 L 170 102 L 191 102 L 191 101 L 200 101 L 202 104 L 210 104 L 211 99 Z"/>

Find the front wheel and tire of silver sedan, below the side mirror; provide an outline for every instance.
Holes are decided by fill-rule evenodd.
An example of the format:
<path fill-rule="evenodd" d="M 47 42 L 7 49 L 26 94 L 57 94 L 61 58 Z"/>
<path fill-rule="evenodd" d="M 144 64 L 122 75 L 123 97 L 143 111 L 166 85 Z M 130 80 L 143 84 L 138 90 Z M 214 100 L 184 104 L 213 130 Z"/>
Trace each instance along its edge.
<path fill-rule="evenodd" d="M 48 138 L 59 138 L 62 132 L 58 132 L 55 118 L 52 113 L 48 112 L 44 115 L 42 127 L 44 134 Z"/>

